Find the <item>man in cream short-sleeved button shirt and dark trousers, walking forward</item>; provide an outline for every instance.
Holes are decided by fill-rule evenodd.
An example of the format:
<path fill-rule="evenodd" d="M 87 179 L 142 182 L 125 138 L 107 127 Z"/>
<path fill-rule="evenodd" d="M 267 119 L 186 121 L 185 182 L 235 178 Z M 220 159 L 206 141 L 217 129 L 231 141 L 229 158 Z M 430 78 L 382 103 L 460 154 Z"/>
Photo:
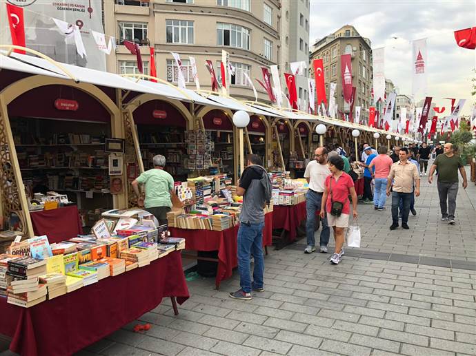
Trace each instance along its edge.
<path fill-rule="evenodd" d="M 398 153 L 399 161 L 393 163 L 390 167 L 390 173 L 387 178 L 387 196 L 390 196 L 390 187 L 393 182 L 392 191 L 392 220 L 390 230 L 395 230 L 398 224 L 398 209 L 400 199 L 403 200 L 403 209 L 401 211 L 401 227 L 408 230 L 408 213 L 410 212 L 411 196 L 413 195 L 413 186 L 416 184 L 415 196 L 420 195 L 420 177 L 417 166 L 408 162 L 408 149 L 402 147 Z"/>

